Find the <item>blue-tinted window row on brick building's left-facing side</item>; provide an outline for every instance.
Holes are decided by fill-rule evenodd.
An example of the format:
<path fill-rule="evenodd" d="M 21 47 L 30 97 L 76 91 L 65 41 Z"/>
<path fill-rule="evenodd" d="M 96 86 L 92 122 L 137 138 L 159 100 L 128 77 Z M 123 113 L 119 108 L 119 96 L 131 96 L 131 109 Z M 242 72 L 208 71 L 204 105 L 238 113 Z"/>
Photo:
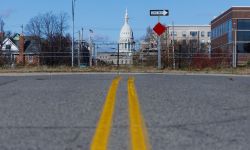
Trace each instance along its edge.
<path fill-rule="evenodd" d="M 220 24 L 219 26 L 212 29 L 212 39 L 218 38 L 226 33 L 232 33 L 232 20 L 227 20 L 226 22 Z M 231 37 L 228 37 L 229 41 L 231 41 Z"/>

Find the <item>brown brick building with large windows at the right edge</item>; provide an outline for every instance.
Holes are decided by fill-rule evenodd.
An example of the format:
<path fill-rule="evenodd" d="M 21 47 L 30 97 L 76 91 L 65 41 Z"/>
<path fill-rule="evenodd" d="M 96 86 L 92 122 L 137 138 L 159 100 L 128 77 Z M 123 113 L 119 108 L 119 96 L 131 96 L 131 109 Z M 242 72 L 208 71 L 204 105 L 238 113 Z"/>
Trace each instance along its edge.
<path fill-rule="evenodd" d="M 250 60 L 250 6 L 231 7 L 211 21 L 211 29 L 212 52 L 227 53 L 236 64 Z"/>

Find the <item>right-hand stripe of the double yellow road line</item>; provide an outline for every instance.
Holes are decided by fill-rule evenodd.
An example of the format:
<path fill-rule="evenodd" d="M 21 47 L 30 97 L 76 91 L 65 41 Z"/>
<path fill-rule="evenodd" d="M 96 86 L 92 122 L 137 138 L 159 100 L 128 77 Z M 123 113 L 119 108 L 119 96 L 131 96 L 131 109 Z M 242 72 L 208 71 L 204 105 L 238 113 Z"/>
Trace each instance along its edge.
<path fill-rule="evenodd" d="M 128 107 L 131 150 L 150 150 L 146 125 L 141 114 L 134 78 L 128 79 Z"/>

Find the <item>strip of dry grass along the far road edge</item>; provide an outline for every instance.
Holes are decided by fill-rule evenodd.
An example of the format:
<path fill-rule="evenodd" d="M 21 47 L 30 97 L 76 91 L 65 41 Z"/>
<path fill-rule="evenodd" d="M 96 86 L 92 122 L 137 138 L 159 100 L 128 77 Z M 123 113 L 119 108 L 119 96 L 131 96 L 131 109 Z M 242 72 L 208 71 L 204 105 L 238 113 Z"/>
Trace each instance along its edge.
<path fill-rule="evenodd" d="M 0 73 L 38 73 L 38 72 L 135 72 L 135 73 L 205 73 L 205 74 L 237 74 L 237 75 L 250 75 L 250 67 L 233 68 L 205 68 L 205 69 L 157 69 L 156 67 L 144 67 L 144 66 L 120 66 L 119 69 L 116 66 L 103 66 L 103 67 L 15 67 L 15 68 L 1 68 Z"/>

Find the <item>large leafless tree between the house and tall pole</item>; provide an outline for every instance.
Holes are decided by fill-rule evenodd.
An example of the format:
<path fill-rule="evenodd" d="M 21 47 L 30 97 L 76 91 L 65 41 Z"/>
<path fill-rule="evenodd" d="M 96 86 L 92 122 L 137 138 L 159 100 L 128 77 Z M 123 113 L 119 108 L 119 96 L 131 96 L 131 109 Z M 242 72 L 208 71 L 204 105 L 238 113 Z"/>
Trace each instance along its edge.
<path fill-rule="evenodd" d="M 57 65 L 61 62 L 69 64 L 71 38 L 65 34 L 68 29 L 67 13 L 39 14 L 30 19 L 25 29 L 28 35 L 39 37 L 42 64 Z"/>

